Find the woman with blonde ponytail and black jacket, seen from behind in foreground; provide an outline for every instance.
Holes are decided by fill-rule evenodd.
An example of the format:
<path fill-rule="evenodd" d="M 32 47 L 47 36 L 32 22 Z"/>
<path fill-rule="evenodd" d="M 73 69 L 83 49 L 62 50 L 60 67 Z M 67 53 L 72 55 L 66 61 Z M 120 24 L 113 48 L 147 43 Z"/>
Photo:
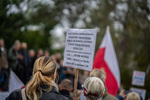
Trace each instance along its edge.
<path fill-rule="evenodd" d="M 33 77 L 24 89 L 14 90 L 6 100 L 68 100 L 58 92 L 55 83 L 57 65 L 51 57 L 39 57 L 33 68 Z M 22 95 L 21 95 L 22 94 Z"/>

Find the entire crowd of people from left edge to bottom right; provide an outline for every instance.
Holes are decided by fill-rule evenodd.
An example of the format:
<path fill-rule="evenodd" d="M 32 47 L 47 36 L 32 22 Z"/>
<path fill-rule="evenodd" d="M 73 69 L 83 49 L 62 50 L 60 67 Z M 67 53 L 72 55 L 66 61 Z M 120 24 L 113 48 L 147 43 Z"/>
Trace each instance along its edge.
<path fill-rule="evenodd" d="M 75 71 L 63 66 L 60 53 L 51 55 L 47 50 L 28 50 L 27 43 L 21 43 L 19 40 L 6 50 L 4 39 L 0 38 L 1 92 L 9 91 L 10 70 L 24 83 L 27 100 L 73 100 Z M 105 87 L 106 77 L 103 69 L 95 69 L 92 72 L 79 71 L 76 99 L 142 100 L 137 93 L 130 92 L 127 95 L 124 94 L 124 90 L 120 90 L 116 96 L 110 95 Z M 20 90 L 12 92 L 6 100 L 21 100 L 21 95 L 15 97 Z"/>

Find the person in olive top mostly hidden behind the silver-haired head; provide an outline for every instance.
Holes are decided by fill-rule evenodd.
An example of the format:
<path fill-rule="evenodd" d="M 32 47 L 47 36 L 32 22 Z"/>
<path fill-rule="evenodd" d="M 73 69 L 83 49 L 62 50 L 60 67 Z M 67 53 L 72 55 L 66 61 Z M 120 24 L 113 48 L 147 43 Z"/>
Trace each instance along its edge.
<path fill-rule="evenodd" d="M 91 73 L 90 73 L 90 77 L 98 77 L 99 79 L 101 79 L 103 81 L 103 83 L 105 83 L 105 79 L 106 79 L 106 73 L 103 69 L 94 69 Z M 114 97 L 113 95 L 110 95 L 107 92 L 107 89 L 105 87 L 105 92 L 103 95 L 103 100 L 118 100 L 116 97 Z"/>

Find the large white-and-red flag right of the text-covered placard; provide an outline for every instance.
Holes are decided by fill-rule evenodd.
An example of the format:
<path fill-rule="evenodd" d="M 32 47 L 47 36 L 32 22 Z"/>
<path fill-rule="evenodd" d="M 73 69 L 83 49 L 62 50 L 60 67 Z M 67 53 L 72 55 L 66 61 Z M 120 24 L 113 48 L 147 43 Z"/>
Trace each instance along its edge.
<path fill-rule="evenodd" d="M 108 93 L 116 96 L 120 87 L 120 70 L 109 27 L 107 27 L 106 34 L 94 59 L 93 69 L 100 68 L 104 68 L 106 72 L 105 86 Z"/>

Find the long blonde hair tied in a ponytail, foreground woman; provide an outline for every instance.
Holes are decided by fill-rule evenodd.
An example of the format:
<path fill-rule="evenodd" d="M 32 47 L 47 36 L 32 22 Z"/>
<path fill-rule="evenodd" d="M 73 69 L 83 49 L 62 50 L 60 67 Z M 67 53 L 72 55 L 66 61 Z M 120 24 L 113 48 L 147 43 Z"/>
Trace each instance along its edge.
<path fill-rule="evenodd" d="M 53 76 L 56 72 L 56 62 L 50 57 L 39 57 L 33 68 L 32 79 L 26 85 L 26 95 L 29 100 L 38 100 L 42 95 L 42 90 L 49 92 L 53 86 Z M 47 89 L 41 87 L 42 84 L 48 85 Z M 56 86 L 56 85 L 54 85 Z"/>

